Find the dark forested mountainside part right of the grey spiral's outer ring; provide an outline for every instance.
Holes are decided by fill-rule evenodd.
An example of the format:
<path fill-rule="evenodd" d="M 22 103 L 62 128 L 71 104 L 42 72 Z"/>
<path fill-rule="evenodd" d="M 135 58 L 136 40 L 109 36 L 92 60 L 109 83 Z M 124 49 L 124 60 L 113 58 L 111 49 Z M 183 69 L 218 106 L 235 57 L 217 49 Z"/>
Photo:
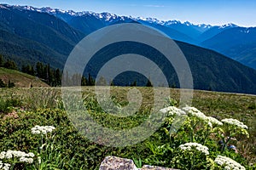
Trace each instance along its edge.
<path fill-rule="evenodd" d="M 256 71 L 206 48 L 178 42 L 195 81 L 195 88 L 256 94 Z M 207 88 L 205 88 L 207 89 Z"/>

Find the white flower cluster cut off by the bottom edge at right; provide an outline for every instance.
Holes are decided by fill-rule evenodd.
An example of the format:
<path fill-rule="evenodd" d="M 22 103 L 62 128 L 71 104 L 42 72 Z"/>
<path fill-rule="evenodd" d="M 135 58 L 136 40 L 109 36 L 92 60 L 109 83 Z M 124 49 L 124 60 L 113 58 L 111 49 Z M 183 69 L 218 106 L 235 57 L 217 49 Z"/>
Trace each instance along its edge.
<path fill-rule="evenodd" d="M 236 161 L 230 159 L 229 157 L 225 156 L 217 156 L 217 158 L 214 160 L 218 165 L 224 166 L 224 169 L 233 169 L 233 170 L 245 170 L 246 168 L 241 166 L 239 163 Z"/>

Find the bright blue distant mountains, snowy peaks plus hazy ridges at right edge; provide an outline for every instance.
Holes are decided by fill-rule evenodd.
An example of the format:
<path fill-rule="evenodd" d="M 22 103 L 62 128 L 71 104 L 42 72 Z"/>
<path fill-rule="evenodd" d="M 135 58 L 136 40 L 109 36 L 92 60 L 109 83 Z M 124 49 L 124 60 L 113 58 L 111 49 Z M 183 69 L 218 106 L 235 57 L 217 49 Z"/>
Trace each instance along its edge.
<path fill-rule="evenodd" d="M 131 16 L 119 16 L 109 13 L 96 14 L 88 11 L 65 11 L 57 8 L 33 8 L 29 6 L 9 7 L 55 15 L 55 17 L 66 21 L 70 26 L 73 26 L 73 28 L 83 32 L 85 35 L 115 23 L 131 22 L 131 20 L 137 21 L 143 25 L 152 26 L 163 31 L 174 40 L 213 49 L 218 53 L 224 54 L 256 70 L 256 46 L 253 45 L 255 44 L 253 42 L 256 37 L 253 35 L 253 31 L 250 31 L 255 28 L 244 28 L 236 26 L 235 24 L 227 24 L 224 26 L 211 26 L 206 24 L 194 25 L 189 21 L 182 23 L 178 20 L 163 21 L 154 18 L 133 18 Z M 232 36 L 236 33 L 234 30 L 241 30 L 243 34 L 242 35 L 240 32 L 239 36 L 236 34 L 235 41 Z M 226 43 L 224 43 L 225 45 L 218 45 L 220 44 L 219 42 L 228 42 L 229 45 L 226 45 Z"/>

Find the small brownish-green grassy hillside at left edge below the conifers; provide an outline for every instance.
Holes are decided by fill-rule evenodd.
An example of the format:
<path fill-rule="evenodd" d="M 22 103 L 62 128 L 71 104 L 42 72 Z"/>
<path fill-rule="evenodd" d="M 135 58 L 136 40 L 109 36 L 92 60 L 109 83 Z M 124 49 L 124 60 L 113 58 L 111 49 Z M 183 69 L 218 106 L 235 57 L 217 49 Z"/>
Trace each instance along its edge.
<path fill-rule="evenodd" d="M 17 88 L 31 88 L 32 87 L 49 87 L 46 83 L 40 81 L 37 77 L 22 73 L 20 71 L 9 70 L 0 67 L 0 79 L 7 83 L 15 82 Z"/>

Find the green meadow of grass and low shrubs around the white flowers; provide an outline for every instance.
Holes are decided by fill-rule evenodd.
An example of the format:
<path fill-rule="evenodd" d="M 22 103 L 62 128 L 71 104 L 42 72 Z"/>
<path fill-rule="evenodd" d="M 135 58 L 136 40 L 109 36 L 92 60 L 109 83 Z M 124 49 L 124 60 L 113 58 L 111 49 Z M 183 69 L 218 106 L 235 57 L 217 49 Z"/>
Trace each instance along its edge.
<path fill-rule="evenodd" d="M 113 103 L 120 106 L 127 105 L 127 93 L 130 89 L 130 87 L 111 87 L 110 95 Z M 94 87 L 83 88 L 84 105 L 96 122 L 104 127 L 114 129 L 137 127 L 147 119 L 154 105 L 153 88 L 137 89 L 142 94 L 143 102 L 139 111 L 133 116 L 119 118 L 104 112 L 96 102 Z M 191 142 L 189 132 L 192 131 L 189 131 L 189 125 L 186 124 L 177 131 L 177 134 L 169 135 L 172 116 L 167 116 L 166 121 L 152 136 L 138 144 L 109 147 L 86 139 L 73 126 L 61 102 L 61 88 L 0 88 L 0 92 L 0 152 L 22 150 L 35 154 L 32 164 L 17 161 L 15 158 L 11 161 L 3 160 L 9 162 L 12 169 L 98 169 L 104 157 L 109 155 L 132 159 L 137 167 L 148 164 L 181 168 L 188 164 L 189 158 L 183 160 L 181 157 L 189 157 L 189 152 L 182 152 L 185 154 L 182 156 L 177 150 L 180 144 Z M 179 89 L 170 88 L 170 93 L 170 99 L 166 99 L 163 108 L 168 105 L 178 106 Z M 214 160 L 218 155 L 228 156 L 247 169 L 254 169 L 256 167 L 256 96 L 195 90 L 192 104 L 191 106 L 206 116 L 213 116 L 219 121 L 224 118 L 234 118 L 243 122 L 248 127 L 247 132 L 250 137 L 247 138 L 245 133 L 237 133 L 239 129 L 234 128 L 232 132 L 237 135 L 234 140 L 230 140 L 230 144 L 236 145 L 238 153 L 228 149 L 222 151 L 218 148 L 220 137 L 217 133 L 212 131 L 207 139 L 201 139 L 205 134 L 203 130 L 205 125 L 200 122 L 193 130 L 195 133 L 193 134 L 195 141 L 193 141 L 203 141 L 211 154 L 206 157 L 196 152 L 198 155 L 195 160 L 206 161 L 205 164 L 197 161 L 189 164 L 193 167 L 191 169 L 221 169 L 218 166 L 211 167 L 212 161 L 209 161 Z M 47 135 L 36 135 L 31 130 L 36 125 L 54 126 L 55 130 Z M 183 167 L 183 169 L 189 168 Z"/>

